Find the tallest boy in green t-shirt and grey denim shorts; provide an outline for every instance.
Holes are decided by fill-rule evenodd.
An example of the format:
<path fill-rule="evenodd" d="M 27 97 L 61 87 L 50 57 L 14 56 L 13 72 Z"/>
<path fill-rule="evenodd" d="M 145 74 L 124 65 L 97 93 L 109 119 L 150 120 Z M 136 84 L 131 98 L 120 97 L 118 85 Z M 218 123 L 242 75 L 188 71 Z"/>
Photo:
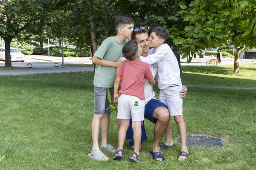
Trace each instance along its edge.
<path fill-rule="evenodd" d="M 113 99 L 113 84 L 116 78 L 116 69 L 121 64 L 122 47 L 127 42 L 125 39 L 131 39 L 131 33 L 134 28 L 134 20 L 130 17 L 120 16 L 116 18 L 115 27 L 117 34 L 114 37 L 108 37 L 99 46 L 93 55 L 92 62 L 96 64 L 93 79 L 94 85 L 94 114 L 92 120 L 92 138 L 93 147 L 88 156 L 95 160 L 108 161 L 109 158 L 99 149 L 99 129 L 101 124 L 102 141 L 101 148 L 115 153 L 116 148 L 108 144 L 109 116 L 111 114 L 109 102 L 107 99 L 108 89 Z"/>

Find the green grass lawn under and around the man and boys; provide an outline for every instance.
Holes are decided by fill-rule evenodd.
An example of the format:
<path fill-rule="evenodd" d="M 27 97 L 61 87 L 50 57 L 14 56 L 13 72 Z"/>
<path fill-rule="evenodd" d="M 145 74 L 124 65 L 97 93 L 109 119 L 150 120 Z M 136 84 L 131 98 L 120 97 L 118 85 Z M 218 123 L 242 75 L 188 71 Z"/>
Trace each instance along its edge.
<path fill-rule="evenodd" d="M 145 120 L 148 140 L 140 152 L 142 164 L 129 161 L 132 150 L 126 143 L 122 161 L 94 161 L 87 157 L 92 146 L 92 72 L 0 76 L 0 170 L 255 169 L 256 65 L 240 65 L 239 75 L 227 65 L 182 69 L 189 90 L 183 100 L 187 134 L 221 138 L 222 148 L 189 147 L 189 159 L 177 161 L 180 144 L 175 143 L 161 151 L 166 161 L 156 163 L 149 154 L 154 125 Z M 114 146 L 116 122 L 112 113 L 108 141 Z M 174 121 L 172 132 L 179 137 Z"/>

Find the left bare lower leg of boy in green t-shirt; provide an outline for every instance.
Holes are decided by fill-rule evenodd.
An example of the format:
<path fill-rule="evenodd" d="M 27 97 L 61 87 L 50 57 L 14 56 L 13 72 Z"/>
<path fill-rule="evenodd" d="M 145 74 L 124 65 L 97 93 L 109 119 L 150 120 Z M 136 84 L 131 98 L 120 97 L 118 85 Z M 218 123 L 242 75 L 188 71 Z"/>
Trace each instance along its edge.
<path fill-rule="evenodd" d="M 93 138 L 93 148 L 91 153 L 95 155 L 98 153 L 99 150 L 99 127 L 100 127 L 100 122 L 102 121 L 103 115 L 101 114 L 94 114 L 93 115 L 93 120 L 92 120 L 92 138 Z M 102 158 L 103 160 L 108 160 L 109 158 L 107 156 Z"/>

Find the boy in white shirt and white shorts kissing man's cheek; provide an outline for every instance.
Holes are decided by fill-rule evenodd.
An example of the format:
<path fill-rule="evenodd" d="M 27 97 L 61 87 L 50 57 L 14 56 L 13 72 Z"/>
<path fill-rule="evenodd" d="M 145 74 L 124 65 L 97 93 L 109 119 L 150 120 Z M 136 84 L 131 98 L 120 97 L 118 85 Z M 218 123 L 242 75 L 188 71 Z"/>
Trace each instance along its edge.
<path fill-rule="evenodd" d="M 182 89 L 180 79 L 180 68 L 177 59 L 168 44 L 165 44 L 169 37 L 168 32 L 160 26 L 154 27 L 150 31 L 150 47 L 148 57 L 140 57 L 140 60 L 148 64 L 157 63 L 158 87 L 160 89 L 159 100 L 166 104 L 169 113 L 174 116 L 179 128 L 181 152 L 178 160 L 186 160 L 189 156 L 186 145 L 186 124 L 183 119 L 182 104 L 183 99 L 179 96 Z M 166 129 L 166 141 L 172 139 L 171 120 Z"/>

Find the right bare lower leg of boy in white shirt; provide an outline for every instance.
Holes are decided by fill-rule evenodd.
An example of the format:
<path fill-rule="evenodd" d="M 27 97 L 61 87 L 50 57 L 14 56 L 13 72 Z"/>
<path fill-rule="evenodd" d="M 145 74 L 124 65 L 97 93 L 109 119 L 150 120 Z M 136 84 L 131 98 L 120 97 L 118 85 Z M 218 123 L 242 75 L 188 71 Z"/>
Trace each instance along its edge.
<path fill-rule="evenodd" d="M 181 143 L 181 148 L 180 151 L 184 151 L 187 154 L 189 154 L 187 145 L 186 145 L 186 124 L 185 121 L 183 119 L 183 116 L 174 116 L 175 122 L 177 123 L 177 126 L 179 128 L 179 133 L 180 133 L 180 143 Z M 186 156 L 179 156 L 178 160 L 179 161 L 183 161 L 187 159 Z"/>

